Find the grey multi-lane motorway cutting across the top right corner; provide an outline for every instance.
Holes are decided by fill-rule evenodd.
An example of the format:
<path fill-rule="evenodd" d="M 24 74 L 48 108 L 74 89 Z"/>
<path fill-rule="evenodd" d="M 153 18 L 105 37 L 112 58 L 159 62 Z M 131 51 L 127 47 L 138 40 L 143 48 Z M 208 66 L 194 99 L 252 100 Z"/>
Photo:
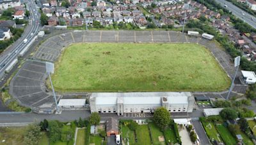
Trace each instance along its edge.
<path fill-rule="evenodd" d="M 235 15 L 237 18 L 240 18 L 241 20 L 244 20 L 247 24 L 251 25 L 253 28 L 256 29 L 256 17 L 253 17 L 253 15 L 250 15 L 246 11 L 241 10 L 234 4 L 225 1 L 225 0 L 216 0 L 216 2 L 220 3 L 223 8 L 225 8 L 225 4 L 227 5 L 227 10 L 231 11 L 233 15 Z M 244 14 L 244 15 L 243 15 Z"/>

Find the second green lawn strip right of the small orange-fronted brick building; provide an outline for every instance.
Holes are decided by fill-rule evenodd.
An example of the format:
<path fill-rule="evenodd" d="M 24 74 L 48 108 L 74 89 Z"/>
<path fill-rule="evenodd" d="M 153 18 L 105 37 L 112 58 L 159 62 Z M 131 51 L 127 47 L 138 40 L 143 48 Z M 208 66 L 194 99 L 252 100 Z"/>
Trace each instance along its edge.
<path fill-rule="evenodd" d="M 147 145 L 151 144 L 148 125 L 139 125 L 136 129 L 137 142 L 136 144 Z"/>

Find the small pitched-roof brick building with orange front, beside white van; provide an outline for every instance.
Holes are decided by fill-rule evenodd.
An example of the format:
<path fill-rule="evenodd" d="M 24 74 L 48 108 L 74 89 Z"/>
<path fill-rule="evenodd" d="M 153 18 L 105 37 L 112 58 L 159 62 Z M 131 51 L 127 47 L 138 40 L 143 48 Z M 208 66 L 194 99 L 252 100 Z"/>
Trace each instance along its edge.
<path fill-rule="evenodd" d="M 106 132 L 107 136 L 110 137 L 110 135 L 118 135 L 118 120 L 116 118 L 109 118 L 109 120 L 106 121 Z"/>

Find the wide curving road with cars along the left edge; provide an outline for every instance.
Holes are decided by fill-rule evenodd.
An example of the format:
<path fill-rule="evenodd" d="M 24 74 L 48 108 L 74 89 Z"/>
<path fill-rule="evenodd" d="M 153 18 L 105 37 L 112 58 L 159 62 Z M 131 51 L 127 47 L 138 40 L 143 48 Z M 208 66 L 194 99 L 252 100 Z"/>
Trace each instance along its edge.
<path fill-rule="evenodd" d="M 4 74 L 6 68 L 13 62 L 13 60 L 17 59 L 19 53 L 26 48 L 31 39 L 35 38 L 40 28 L 40 14 L 36 8 L 35 1 L 26 0 L 27 8 L 30 12 L 29 24 L 24 30 L 22 36 L 13 43 L 6 51 L 1 53 L 0 55 L 0 77 L 1 74 Z M 33 33 L 33 34 L 32 34 Z M 23 43 L 24 39 L 28 39 L 27 43 Z"/>

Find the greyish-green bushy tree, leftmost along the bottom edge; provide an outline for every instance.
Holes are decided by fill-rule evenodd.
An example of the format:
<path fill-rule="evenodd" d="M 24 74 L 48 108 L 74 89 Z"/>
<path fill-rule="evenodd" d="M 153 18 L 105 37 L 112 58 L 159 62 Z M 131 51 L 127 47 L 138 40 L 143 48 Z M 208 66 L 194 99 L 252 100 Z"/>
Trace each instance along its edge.
<path fill-rule="evenodd" d="M 24 134 L 24 144 L 38 144 L 41 135 L 42 134 L 39 125 L 29 125 Z"/>

